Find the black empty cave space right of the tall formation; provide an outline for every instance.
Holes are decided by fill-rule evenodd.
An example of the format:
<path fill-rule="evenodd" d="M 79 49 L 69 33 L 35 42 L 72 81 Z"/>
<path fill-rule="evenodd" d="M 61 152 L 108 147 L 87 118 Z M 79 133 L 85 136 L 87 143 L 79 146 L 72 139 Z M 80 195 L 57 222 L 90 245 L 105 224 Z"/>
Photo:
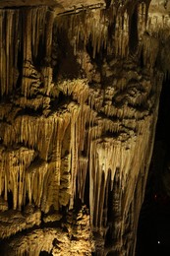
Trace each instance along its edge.
<path fill-rule="evenodd" d="M 136 256 L 170 255 L 170 194 L 162 181 L 170 163 L 169 131 L 170 78 L 167 76 L 160 96 L 152 160 L 138 226 Z M 170 175 L 170 168 L 168 173 Z"/>

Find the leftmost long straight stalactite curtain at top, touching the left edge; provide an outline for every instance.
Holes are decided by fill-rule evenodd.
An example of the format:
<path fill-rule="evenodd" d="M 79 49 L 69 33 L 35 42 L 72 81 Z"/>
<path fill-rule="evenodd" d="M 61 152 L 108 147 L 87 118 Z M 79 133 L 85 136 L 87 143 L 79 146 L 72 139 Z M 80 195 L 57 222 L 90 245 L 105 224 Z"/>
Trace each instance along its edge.
<path fill-rule="evenodd" d="M 0 81 L 1 96 L 8 95 L 16 86 L 18 79 L 17 59 L 18 50 L 14 52 L 13 43 L 19 45 L 20 34 L 16 35 L 18 30 L 19 12 L 13 10 L 0 10 L 0 34 L 1 34 L 1 64 L 0 64 Z M 14 28 L 16 21 L 16 28 Z M 16 48 L 15 48 L 16 49 Z M 15 65 L 14 65 L 15 64 Z"/>

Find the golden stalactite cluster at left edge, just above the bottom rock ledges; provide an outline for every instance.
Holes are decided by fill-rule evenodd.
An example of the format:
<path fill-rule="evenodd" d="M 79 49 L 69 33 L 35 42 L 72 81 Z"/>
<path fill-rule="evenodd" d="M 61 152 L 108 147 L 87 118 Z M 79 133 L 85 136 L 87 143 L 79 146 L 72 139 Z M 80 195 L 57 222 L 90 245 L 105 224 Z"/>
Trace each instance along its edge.
<path fill-rule="evenodd" d="M 2 151 L 1 160 L 1 190 L 0 195 L 5 190 L 4 199 L 7 201 L 7 191 L 13 193 L 13 209 L 19 208 L 24 201 L 25 171 L 28 164 L 33 159 L 34 151 L 20 148 L 14 151 Z M 5 184 L 4 180 L 5 179 Z"/>

